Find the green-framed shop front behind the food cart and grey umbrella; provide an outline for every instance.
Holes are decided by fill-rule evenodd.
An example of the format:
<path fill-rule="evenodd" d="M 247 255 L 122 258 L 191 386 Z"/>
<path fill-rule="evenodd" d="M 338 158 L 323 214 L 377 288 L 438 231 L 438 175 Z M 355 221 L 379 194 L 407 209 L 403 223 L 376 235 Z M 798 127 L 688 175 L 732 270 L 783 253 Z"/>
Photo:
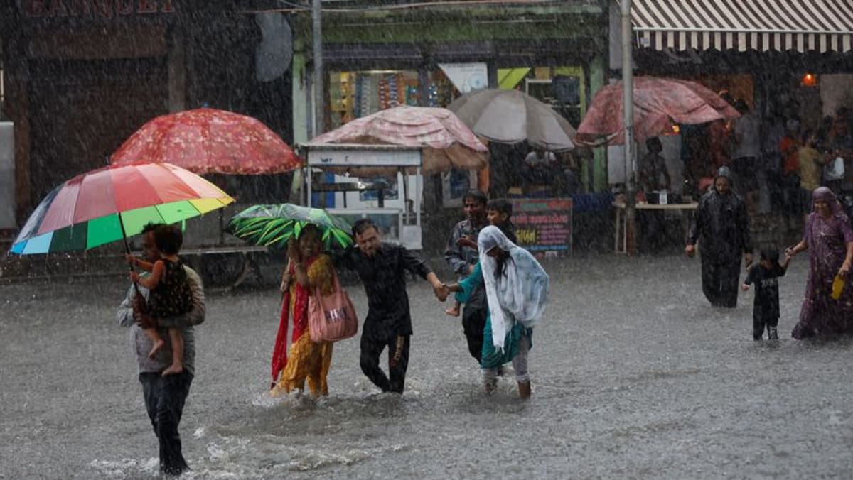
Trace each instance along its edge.
<path fill-rule="evenodd" d="M 305 14 L 294 14 L 292 19 L 294 136 L 307 139 L 313 136 L 310 122 L 305 121 L 311 118 L 313 98 L 308 74 L 310 19 Z M 380 13 L 324 10 L 325 130 L 397 105 L 446 107 L 460 95 L 482 88 L 524 91 L 577 125 L 589 92 L 603 83 L 604 32 L 606 11 L 599 3 L 586 1 L 548 7 L 510 3 Z M 434 216 L 448 208 L 455 211 L 468 188 L 488 188 L 493 197 L 565 196 L 560 188 L 566 182 L 553 182 L 551 173 L 531 172 L 525 163 L 528 153 L 531 148 L 524 143 L 493 143 L 488 173 L 452 170 L 426 176 L 425 212 Z M 564 165 L 572 166 L 579 189 L 606 187 L 603 157 L 589 155 L 577 162 L 570 155 L 555 159 L 549 165 L 554 173 L 566 170 Z M 544 185 L 537 184 L 533 173 L 540 174 Z"/>

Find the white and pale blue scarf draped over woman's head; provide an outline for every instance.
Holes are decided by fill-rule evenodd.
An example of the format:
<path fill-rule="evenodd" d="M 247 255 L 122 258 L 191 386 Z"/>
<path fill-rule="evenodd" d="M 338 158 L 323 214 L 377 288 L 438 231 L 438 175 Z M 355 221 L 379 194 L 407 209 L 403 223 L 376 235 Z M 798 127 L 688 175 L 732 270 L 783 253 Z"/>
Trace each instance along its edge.
<path fill-rule="evenodd" d="M 530 252 L 509 241 L 495 226 L 480 230 L 477 246 L 491 314 L 491 338 L 496 349 L 503 350 L 503 340 L 514 321 L 533 327 L 542 317 L 548 299 L 548 274 Z M 488 255 L 494 247 L 509 254 L 500 278 L 496 276 L 496 258 Z"/>

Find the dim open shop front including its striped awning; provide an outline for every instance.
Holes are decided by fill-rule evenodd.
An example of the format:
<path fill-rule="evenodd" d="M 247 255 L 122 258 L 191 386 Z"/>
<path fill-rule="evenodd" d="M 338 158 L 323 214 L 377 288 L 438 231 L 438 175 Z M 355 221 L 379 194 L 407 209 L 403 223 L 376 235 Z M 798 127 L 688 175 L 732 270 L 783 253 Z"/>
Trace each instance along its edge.
<path fill-rule="evenodd" d="M 799 142 L 805 132 L 827 130 L 839 111 L 853 107 L 853 11 L 842 3 L 780 0 L 729 8 L 722 0 L 633 0 L 635 74 L 703 84 L 730 101 L 746 103 L 761 119 L 763 139 L 789 124 L 796 125 Z M 612 33 L 618 10 L 614 0 Z M 615 54 L 612 50 L 611 67 L 618 68 L 621 52 Z M 726 126 L 730 132 L 734 122 Z M 675 157 L 671 166 L 678 168 L 671 174 L 681 173 L 682 165 L 719 166 L 714 159 L 692 166 L 707 157 L 707 139 L 714 136 L 707 126 L 682 125 L 680 134 L 664 142 Z M 776 142 L 765 142 L 763 150 Z M 620 165 L 611 167 L 620 170 Z"/>

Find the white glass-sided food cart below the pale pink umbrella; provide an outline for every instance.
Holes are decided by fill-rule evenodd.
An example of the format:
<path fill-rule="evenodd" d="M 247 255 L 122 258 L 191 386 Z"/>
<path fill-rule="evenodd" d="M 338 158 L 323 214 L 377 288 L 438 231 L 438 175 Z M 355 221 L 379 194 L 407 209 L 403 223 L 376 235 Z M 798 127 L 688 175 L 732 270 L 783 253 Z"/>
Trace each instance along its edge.
<path fill-rule="evenodd" d="M 310 206 L 325 206 L 350 223 L 369 217 L 386 240 L 397 241 L 411 250 L 423 248 L 421 148 L 309 142 L 301 145 L 300 151 L 307 159 L 305 205 L 315 203 L 311 201 L 314 193 L 334 193 L 334 206 L 322 205 L 322 200 L 316 202 L 319 205 Z M 334 182 L 317 182 L 315 171 L 333 173 Z M 395 183 L 398 198 L 386 198 L 386 190 Z M 363 200 L 364 193 L 372 192 L 375 199 L 370 195 L 370 200 Z"/>

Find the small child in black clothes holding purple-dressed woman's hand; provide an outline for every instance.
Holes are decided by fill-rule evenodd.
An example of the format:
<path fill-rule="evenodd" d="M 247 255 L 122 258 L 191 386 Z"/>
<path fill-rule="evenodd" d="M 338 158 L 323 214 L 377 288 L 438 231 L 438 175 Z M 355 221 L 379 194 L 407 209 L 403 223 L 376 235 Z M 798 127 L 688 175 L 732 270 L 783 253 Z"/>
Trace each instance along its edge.
<path fill-rule="evenodd" d="M 779 277 L 785 276 L 791 263 L 791 256 L 785 255 L 785 262 L 779 263 L 779 250 L 765 248 L 761 251 L 761 262 L 752 267 L 740 289 L 746 292 L 750 284 L 755 284 L 755 303 L 752 306 L 752 338 L 760 340 L 764 327 L 767 327 L 767 338 L 778 340 L 779 333 Z"/>

